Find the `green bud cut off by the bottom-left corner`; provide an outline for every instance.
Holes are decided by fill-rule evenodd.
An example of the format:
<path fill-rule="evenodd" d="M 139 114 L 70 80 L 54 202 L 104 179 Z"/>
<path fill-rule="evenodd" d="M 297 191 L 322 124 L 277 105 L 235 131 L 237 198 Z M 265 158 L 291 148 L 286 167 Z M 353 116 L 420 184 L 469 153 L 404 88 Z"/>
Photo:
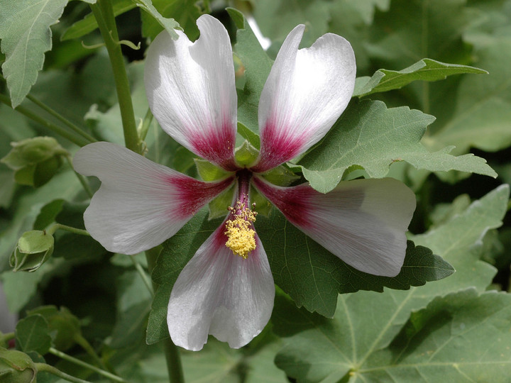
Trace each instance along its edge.
<path fill-rule="evenodd" d="M 35 383 L 37 368 L 25 353 L 0 348 L 0 381 L 2 383 Z"/>

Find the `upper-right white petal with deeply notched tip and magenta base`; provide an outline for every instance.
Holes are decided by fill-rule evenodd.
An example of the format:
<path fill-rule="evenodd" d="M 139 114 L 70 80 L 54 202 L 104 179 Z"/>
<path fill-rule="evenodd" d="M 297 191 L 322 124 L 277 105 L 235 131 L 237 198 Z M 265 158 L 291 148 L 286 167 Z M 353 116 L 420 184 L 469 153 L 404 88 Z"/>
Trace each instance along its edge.
<path fill-rule="evenodd" d="M 326 33 L 312 47 L 298 50 L 303 31 L 297 26 L 287 35 L 260 96 L 258 172 L 311 148 L 353 94 L 356 65 L 350 43 Z"/>

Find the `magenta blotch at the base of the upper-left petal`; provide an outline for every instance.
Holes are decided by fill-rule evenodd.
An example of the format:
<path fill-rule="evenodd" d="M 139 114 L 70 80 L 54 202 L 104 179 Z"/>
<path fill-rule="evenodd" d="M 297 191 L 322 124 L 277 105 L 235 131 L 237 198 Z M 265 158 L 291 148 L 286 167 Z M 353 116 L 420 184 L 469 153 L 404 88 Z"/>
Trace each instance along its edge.
<path fill-rule="evenodd" d="M 209 131 L 198 133 L 193 129 L 189 142 L 197 155 L 214 162 L 225 170 L 235 171 L 239 167 L 234 161 L 234 145 L 236 144 L 236 128 L 229 121 L 224 121 L 221 128 L 209 128 Z"/>

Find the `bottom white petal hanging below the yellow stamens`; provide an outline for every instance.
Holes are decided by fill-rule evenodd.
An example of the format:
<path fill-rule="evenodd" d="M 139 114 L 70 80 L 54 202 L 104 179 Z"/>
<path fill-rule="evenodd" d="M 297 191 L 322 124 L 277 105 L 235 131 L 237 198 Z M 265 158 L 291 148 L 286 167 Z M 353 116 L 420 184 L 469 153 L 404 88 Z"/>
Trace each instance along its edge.
<path fill-rule="evenodd" d="M 197 250 L 170 294 L 167 324 L 172 342 L 201 350 L 208 334 L 241 348 L 270 320 L 275 285 L 263 245 L 245 260 L 226 247 L 225 222 Z"/>

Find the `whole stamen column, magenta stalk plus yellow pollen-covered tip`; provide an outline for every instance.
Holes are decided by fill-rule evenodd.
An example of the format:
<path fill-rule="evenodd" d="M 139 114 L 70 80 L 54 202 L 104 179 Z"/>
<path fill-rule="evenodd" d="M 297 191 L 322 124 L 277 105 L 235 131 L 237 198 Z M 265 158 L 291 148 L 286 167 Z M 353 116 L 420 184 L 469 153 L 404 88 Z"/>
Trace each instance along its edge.
<path fill-rule="evenodd" d="M 257 213 L 251 209 L 248 191 L 250 189 L 251 172 L 240 170 L 236 177 L 238 178 L 238 200 L 235 206 L 229 207 L 229 220 L 226 221 L 226 231 L 228 239 L 226 246 L 230 248 L 235 255 L 246 259 L 248 253 L 255 250 L 255 230 L 253 223 Z"/>

